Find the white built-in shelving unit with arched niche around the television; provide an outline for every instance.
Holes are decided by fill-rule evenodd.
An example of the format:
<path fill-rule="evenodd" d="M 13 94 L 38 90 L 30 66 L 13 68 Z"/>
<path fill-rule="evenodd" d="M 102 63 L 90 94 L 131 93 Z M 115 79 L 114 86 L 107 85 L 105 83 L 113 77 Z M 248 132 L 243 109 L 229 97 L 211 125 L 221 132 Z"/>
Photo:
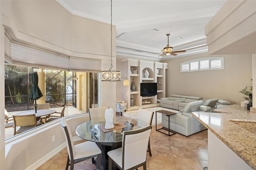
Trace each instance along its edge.
<path fill-rule="evenodd" d="M 127 77 L 128 81 L 130 81 L 130 86 L 122 87 L 122 100 L 127 103 L 127 111 L 160 106 L 157 101 L 165 97 L 167 66 L 167 63 L 154 61 L 122 60 L 122 77 Z M 146 70 L 149 73 L 148 77 L 144 75 Z M 134 91 L 132 91 L 131 87 L 133 83 L 136 87 Z M 157 83 L 157 95 L 151 97 L 140 96 L 140 83 Z M 131 105 L 131 98 L 134 101 L 134 105 Z"/>

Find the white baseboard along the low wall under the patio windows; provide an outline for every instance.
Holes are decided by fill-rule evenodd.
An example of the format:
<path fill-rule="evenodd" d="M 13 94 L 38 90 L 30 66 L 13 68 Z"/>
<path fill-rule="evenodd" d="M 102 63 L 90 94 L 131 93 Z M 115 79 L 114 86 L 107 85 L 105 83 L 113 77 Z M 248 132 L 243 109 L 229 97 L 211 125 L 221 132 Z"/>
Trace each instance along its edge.
<path fill-rule="evenodd" d="M 78 141 L 81 140 L 80 137 L 75 136 L 73 137 L 73 141 Z M 29 166 L 28 168 L 26 168 L 26 170 L 35 170 L 37 168 L 39 168 L 40 166 L 42 166 L 42 164 L 44 164 L 46 161 L 48 161 L 50 158 L 52 158 L 53 156 L 55 156 L 56 154 L 58 154 L 62 149 L 64 149 L 67 146 L 66 141 L 61 144 L 60 146 L 58 146 L 58 148 L 55 148 L 54 150 L 52 150 L 52 152 L 46 154 L 44 157 L 42 157 L 40 160 L 34 162 L 34 164 L 32 164 L 31 166 Z"/>

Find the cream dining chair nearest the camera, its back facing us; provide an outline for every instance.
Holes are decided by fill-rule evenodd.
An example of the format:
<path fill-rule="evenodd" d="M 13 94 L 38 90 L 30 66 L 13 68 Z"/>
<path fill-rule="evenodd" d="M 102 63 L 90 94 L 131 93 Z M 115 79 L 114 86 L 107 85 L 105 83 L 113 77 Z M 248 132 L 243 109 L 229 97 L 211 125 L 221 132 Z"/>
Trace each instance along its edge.
<path fill-rule="evenodd" d="M 152 126 L 148 125 L 136 130 L 124 131 L 122 147 L 108 152 L 108 169 L 112 170 L 112 162 L 120 170 L 133 170 L 140 166 L 146 170 L 146 155 Z"/>

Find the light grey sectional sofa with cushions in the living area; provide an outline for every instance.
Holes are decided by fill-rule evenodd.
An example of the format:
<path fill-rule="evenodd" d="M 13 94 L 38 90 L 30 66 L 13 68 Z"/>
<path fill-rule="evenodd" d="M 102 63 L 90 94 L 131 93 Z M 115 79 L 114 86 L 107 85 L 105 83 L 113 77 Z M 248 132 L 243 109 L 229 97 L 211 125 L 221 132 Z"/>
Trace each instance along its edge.
<path fill-rule="evenodd" d="M 162 127 L 185 136 L 206 129 L 192 114 L 192 111 L 212 112 L 212 110 L 230 105 L 230 102 L 219 99 L 202 99 L 201 97 L 171 95 L 160 99 L 160 106 L 179 110 L 179 113 L 170 116 L 162 114 Z"/>

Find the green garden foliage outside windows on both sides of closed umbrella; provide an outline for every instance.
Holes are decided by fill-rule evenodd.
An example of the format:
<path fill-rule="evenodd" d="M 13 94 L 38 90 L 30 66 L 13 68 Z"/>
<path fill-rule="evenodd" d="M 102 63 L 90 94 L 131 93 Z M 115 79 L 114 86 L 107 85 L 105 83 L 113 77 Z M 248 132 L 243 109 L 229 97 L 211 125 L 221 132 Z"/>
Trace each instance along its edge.
<path fill-rule="evenodd" d="M 5 108 L 7 111 L 33 109 L 29 99 L 32 67 L 5 65 Z M 72 105 L 72 72 L 47 69 L 46 102 L 50 107 Z M 65 83 L 66 80 L 66 83 Z M 67 93 L 71 97 L 66 99 Z"/>

